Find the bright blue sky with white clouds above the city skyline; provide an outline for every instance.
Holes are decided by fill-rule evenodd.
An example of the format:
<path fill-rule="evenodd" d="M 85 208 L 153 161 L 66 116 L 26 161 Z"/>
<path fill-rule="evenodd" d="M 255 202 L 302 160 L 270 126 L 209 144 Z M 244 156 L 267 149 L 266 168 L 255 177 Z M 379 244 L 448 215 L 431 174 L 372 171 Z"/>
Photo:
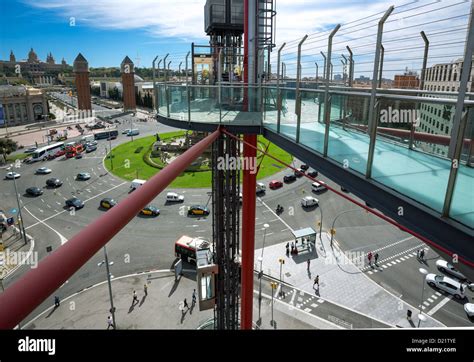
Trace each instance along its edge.
<path fill-rule="evenodd" d="M 171 53 L 172 67 L 177 67 L 190 50 L 191 42 L 208 43 L 204 34 L 204 4 L 205 0 L 1 0 L 0 59 L 8 59 L 10 49 L 13 49 L 17 59 L 24 59 L 33 47 L 42 60 L 51 51 L 56 61 L 64 57 L 68 63 L 72 63 L 77 53 L 81 52 L 92 67 L 118 66 L 124 56 L 128 55 L 139 66 L 149 67 L 155 55 Z M 455 31 L 456 26 L 458 33 L 447 33 L 444 38 L 433 35 L 436 37 L 433 38 L 434 44 L 453 42 L 453 39 L 461 42 L 464 40 L 467 16 L 409 28 L 412 24 L 469 13 L 469 2 L 463 0 L 278 0 L 277 44 L 289 42 L 283 52 L 288 73 L 296 70 L 296 43 L 291 42 L 292 40 L 300 39 L 304 34 L 310 35 L 303 47 L 303 61 L 306 62 L 303 73 L 311 70 L 310 74 L 313 74 L 314 62 L 322 61 L 319 52 L 326 51 L 327 48 L 327 38 L 321 36 L 321 32 L 324 35 L 337 23 L 351 22 L 356 25 L 355 28 L 352 25 L 351 30 L 345 31 L 343 25 L 336 35 L 335 42 L 342 44 L 335 45 L 336 51 L 342 52 L 345 45 L 360 47 L 360 44 L 375 44 L 375 37 L 370 36 L 376 30 L 380 13 L 392 4 L 396 9 L 386 29 L 395 29 L 397 32 L 384 35 L 384 41 L 391 37 L 403 38 L 404 34 L 419 34 L 420 30 L 425 30 L 429 36 L 446 27 Z M 378 15 L 372 16 L 374 14 Z M 366 17 L 369 18 L 358 20 Z M 352 23 L 354 21 L 356 23 Z M 75 23 L 74 26 L 71 26 L 71 22 Z M 355 32 L 365 25 L 372 27 Z M 423 44 L 421 39 L 414 39 L 410 41 L 412 43 Z M 411 59 L 414 52 L 415 58 L 418 58 L 422 51 L 396 52 L 400 43 L 391 44 L 387 41 L 387 59 L 398 56 L 401 60 L 391 60 L 392 67 L 385 68 L 388 70 L 387 75 L 390 75 L 391 68 L 398 71 L 405 67 L 414 70 L 420 67 L 419 59 Z M 396 54 L 390 53 L 390 46 Z M 451 61 L 463 51 L 462 44 L 453 44 L 448 49 L 435 48 L 430 50 L 430 57 L 433 57 L 430 59 L 431 63 Z M 361 64 L 356 70 L 359 74 L 371 75 L 369 63 L 373 60 L 373 55 L 370 54 L 373 47 L 360 48 L 357 52 L 367 55 L 356 58 L 356 62 Z M 438 61 L 436 55 L 448 55 L 452 59 L 439 58 Z M 272 57 L 275 56 L 276 51 Z M 340 61 L 336 60 L 334 63 L 335 73 L 342 71 Z M 367 65 L 362 66 L 364 63 Z M 365 73 L 366 69 L 369 72 Z"/>

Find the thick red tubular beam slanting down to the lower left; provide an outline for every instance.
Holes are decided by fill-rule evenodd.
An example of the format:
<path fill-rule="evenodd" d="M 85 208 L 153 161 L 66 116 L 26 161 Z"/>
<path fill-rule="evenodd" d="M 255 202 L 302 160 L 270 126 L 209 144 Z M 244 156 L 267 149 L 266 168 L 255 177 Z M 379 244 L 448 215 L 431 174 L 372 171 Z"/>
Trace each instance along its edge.
<path fill-rule="evenodd" d="M 208 135 L 0 294 L 0 329 L 14 328 L 63 285 L 219 137 Z"/>

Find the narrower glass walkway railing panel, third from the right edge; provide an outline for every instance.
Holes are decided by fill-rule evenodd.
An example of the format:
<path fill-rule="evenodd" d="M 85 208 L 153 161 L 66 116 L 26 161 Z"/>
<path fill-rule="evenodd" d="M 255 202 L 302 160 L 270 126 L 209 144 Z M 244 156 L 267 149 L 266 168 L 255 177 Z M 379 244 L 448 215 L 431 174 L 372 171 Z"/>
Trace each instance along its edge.
<path fill-rule="evenodd" d="M 328 141 L 329 158 L 364 175 L 370 143 L 369 100 L 362 96 L 333 95 Z"/>

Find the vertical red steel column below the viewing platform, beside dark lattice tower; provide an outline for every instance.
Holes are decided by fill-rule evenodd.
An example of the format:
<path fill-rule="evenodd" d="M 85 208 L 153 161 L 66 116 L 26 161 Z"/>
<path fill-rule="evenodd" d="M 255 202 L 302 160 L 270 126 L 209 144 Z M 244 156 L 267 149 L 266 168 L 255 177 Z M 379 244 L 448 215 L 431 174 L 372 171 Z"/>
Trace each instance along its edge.
<path fill-rule="evenodd" d="M 232 135 L 235 137 L 234 135 Z M 240 138 L 239 138 L 240 140 Z M 257 136 L 244 136 L 244 157 L 249 160 L 257 157 Z M 255 192 L 257 173 L 243 171 L 242 190 L 242 288 L 240 328 L 252 329 L 253 313 L 253 265 L 255 258 Z"/>

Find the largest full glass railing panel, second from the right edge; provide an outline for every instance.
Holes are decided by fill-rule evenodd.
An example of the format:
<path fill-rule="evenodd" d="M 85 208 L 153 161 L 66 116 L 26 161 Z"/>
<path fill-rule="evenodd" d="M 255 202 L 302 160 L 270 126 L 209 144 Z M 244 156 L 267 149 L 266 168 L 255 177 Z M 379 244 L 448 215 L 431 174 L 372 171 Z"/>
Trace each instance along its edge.
<path fill-rule="evenodd" d="M 381 101 L 373 179 L 441 212 L 450 172 L 446 128 L 451 130 L 453 110 L 449 105 Z M 415 142 L 409 149 L 412 123 Z"/>

